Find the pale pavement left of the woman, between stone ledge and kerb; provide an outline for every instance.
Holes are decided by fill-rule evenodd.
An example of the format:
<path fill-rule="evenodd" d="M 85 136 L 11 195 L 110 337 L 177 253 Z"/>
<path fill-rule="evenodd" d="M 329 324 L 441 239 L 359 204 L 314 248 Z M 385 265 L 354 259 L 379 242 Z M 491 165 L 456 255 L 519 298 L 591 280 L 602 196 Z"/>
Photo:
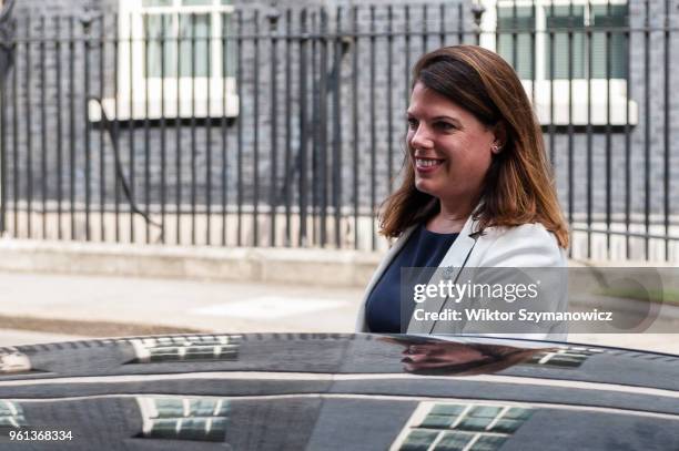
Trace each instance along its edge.
<path fill-rule="evenodd" d="M 363 290 L 0 273 L 0 314 L 4 316 L 152 324 L 223 332 L 347 332 L 354 329 Z"/>

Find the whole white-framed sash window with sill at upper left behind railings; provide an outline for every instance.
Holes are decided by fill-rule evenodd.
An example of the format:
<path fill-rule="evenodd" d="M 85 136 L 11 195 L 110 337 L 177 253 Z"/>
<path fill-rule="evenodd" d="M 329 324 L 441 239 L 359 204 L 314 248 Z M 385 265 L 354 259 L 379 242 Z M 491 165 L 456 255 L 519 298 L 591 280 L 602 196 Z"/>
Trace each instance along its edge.
<path fill-rule="evenodd" d="M 120 0 L 118 95 L 108 117 L 239 114 L 231 0 Z M 101 120 L 90 103 L 90 120 Z"/>

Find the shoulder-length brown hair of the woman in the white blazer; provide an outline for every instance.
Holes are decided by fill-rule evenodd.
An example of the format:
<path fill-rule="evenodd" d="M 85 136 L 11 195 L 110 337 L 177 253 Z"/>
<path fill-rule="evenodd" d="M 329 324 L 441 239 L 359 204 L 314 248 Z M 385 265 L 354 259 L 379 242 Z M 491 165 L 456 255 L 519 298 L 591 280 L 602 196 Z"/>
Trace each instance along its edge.
<path fill-rule="evenodd" d="M 483 204 L 473 212 L 478 230 L 490 226 L 540 223 L 559 246 L 568 247 L 547 162 L 543 132 L 516 72 L 497 53 L 477 45 L 445 47 L 423 55 L 413 69 L 413 86 L 427 89 L 469 111 L 486 126 L 506 132 L 503 151 L 493 155 L 484 181 Z M 403 184 L 383 204 L 381 233 L 399 236 L 438 212 L 438 199 L 415 187 L 415 171 L 404 164 Z"/>

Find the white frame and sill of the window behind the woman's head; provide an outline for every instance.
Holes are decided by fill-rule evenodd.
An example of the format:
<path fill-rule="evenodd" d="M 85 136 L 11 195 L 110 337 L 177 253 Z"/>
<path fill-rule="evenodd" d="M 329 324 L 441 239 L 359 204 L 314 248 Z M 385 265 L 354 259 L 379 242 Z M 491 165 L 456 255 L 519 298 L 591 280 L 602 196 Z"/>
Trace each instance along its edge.
<path fill-rule="evenodd" d="M 495 32 L 497 28 L 497 1 L 480 0 L 486 9 L 480 23 L 480 45 L 497 51 Z M 627 99 L 627 80 L 624 79 L 574 79 L 549 81 L 545 74 L 545 8 L 554 6 L 587 6 L 586 0 L 516 0 L 517 7 L 536 6 L 535 55 L 537 58 L 535 74 L 534 109 L 543 125 L 636 125 L 639 120 L 638 105 Z M 514 4 L 510 3 L 510 4 Z M 606 0 L 590 0 L 589 4 L 607 4 Z M 610 0 L 610 4 L 627 4 L 626 0 Z M 586 11 L 587 12 L 587 11 Z M 521 80 L 528 98 L 533 100 L 533 80 Z M 553 86 L 554 85 L 554 86 Z M 569 103 L 569 90 L 572 104 Z M 590 94 L 591 90 L 591 94 Z M 553 94 L 554 91 L 554 94 Z M 554 96 L 553 96 L 554 95 Z M 591 96 L 591 109 L 588 103 Z M 609 100 L 610 98 L 610 100 Z M 554 100 L 554 107 L 553 107 Z M 627 109 L 629 107 L 629 117 Z M 551 113 L 554 110 L 554 117 Z M 607 110 L 610 121 L 607 121 Z M 570 121 L 569 121 L 570 115 Z"/>

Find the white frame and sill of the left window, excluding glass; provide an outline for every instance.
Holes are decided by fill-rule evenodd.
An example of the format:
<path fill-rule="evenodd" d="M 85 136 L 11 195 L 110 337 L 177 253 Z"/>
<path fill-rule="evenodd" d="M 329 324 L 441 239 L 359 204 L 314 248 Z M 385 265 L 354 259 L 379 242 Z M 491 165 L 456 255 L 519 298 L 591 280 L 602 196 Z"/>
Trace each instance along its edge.
<path fill-rule="evenodd" d="M 118 92 L 114 98 L 101 100 L 109 119 L 119 121 L 190 119 L 222 116 L 236 117 L 240 100 L 236 93 L 235 74 L 223 74 L 223 14 L 232 14 L 232 4 L 211 0 L 206 6 L 182 6 L 181 0 L 170 0 L 172 6 L 143 7 L 140 0 L 119 0 L 118 21 Z M 210 14 L 210 71 L 209 76 L 183 75 L 182 72 L 146 76 L 148 42 L 145 17 L 149 14 L 178 14 L 172 19 L 173 30 L 166 42 L 176 44 L 179 16 Z M 185 38 L 186 39 L 186 38 Z M 188 37 L 191 42 L 191 37 Z M 207 42 L 196 37 L 195 42 Z M 235 49 L 232 47 L 233 51 Z M 176 47 L 175 58 L 181 54 Z M 176 61 L 176 60 L 174 60 Z M 176 70 L 176 69 L 175 69 Z M 161 69 L 162 71 L 162 69 Z M 101 107 L 92 101 L 89 105 L 90 121 L 101 121 Z"/>

